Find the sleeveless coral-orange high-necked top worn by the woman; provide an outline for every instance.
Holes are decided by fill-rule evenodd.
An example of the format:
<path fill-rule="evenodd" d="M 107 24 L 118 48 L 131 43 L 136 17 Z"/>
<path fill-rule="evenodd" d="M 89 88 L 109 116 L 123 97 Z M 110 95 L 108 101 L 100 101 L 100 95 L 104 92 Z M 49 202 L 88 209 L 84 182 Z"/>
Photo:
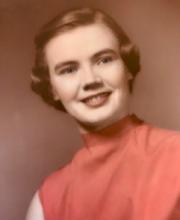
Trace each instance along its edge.
<path fill-rule="evenodd" d="M 45 220 L 180 220 L 180 133 L 127 116 L 39 190 Z"/>

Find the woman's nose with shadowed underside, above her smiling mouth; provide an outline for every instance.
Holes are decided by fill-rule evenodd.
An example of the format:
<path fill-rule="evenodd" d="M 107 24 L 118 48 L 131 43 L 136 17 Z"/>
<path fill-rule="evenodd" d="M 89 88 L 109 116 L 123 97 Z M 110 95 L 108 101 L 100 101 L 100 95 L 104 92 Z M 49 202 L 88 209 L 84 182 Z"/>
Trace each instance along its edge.
<path fill-rule="evenodd" d="M 95 90 L 103 87 L 103 82 L 100 76 L 94 71 L 91 66 L 84 66 L 81 77 L 81 85 L 83 90 Z"/>

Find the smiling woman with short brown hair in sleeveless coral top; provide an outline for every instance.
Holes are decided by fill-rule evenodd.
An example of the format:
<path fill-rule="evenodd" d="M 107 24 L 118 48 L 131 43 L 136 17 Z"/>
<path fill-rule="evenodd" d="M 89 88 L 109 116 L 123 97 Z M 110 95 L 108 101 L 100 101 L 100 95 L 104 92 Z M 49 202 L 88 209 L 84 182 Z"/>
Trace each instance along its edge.
<path fill-rule="evenodd" d="M 80 8 L 35 42 L 32 88 L 75 119 L 85 147 L 44 181 L 27 219 L 178 219 L 180 136 L 129 115 L 140 64 L 122 28 Z"/>

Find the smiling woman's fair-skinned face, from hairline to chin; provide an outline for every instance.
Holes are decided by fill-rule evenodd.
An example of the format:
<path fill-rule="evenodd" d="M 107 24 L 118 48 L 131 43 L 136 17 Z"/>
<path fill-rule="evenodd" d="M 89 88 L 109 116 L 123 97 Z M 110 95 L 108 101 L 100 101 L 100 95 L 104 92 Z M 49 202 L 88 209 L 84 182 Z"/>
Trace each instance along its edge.
<path fill-rule="evenodd" d="M 61 33 L 45 54 L 55 99 L 82 127 L 97 129 L 127 114 L 130 74 L 108 27 L 95 23 Z"/>

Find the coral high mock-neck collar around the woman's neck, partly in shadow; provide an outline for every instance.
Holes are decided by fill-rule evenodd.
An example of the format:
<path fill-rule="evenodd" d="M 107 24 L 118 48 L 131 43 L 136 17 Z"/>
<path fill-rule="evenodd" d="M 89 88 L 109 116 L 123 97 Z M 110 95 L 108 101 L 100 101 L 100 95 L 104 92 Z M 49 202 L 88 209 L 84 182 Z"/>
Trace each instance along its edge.
<path fill-rule="evenodd" d="M 126 132 L 142 124 L 135 114 L 127 115 L 117 122 L 101 129 L 90 133 L 82 134 L 86 147 L 106 144 L 116 137 L 124 135 Z"/>

